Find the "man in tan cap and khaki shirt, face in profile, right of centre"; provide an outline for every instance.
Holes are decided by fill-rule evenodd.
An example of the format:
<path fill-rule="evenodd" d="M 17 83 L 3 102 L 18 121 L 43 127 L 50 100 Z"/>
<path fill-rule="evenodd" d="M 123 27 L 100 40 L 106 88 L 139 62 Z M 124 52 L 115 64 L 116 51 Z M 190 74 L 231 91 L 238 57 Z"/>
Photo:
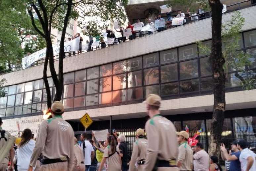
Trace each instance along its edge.
<path fill-rule="evenodd" d="M 179 155 L 177 166 L 180 170 L 192 170 L 193 150 L 188 145 L 189 133 L 186 131 L 177 132 L 177 141 L 179 143 Z"/>

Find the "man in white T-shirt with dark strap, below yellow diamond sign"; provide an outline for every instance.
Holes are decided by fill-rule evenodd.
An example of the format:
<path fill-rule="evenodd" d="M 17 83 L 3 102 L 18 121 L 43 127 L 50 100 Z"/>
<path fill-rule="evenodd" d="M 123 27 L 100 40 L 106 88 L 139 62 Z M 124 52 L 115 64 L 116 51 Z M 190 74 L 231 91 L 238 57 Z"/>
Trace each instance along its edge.
<path fill-rule="evenodd" d="M 84 153 L 84 165 L 85 165 L 85 171 L 87 171 L 91 165 L 91 161 L 92 161 L 92 157 L 93 156 L 93 147 L 92 144 L 87 141 L 87 133 L 82 133 L 80 135 L 80 144 L 79 146 L 83 149 L 83 153 Z"/>

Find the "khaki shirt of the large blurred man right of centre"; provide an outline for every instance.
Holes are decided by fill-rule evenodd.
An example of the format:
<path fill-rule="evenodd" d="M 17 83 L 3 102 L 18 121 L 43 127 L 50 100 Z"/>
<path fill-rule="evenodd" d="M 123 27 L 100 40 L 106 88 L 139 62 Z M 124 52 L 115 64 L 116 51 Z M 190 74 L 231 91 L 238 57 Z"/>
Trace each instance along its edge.
<path fill-rule="evenodd" d="M 148 139 L 145 171 L 154 168 L 156 159 L 170 160 L 178 158 L 178 142 L 173 123 L 160 114 L 148 120 L 145 125 Z"/>

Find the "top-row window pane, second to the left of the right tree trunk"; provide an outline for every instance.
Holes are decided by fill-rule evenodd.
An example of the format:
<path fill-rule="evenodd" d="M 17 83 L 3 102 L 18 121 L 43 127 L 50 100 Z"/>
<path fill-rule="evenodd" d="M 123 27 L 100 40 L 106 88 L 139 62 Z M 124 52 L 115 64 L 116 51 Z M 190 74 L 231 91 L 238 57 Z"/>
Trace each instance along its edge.
<path fill-rule="evenodd" d="M 197 57 L 197 45 L 192 44 L 179 48 L 179 60 L 191 59 Z"/>

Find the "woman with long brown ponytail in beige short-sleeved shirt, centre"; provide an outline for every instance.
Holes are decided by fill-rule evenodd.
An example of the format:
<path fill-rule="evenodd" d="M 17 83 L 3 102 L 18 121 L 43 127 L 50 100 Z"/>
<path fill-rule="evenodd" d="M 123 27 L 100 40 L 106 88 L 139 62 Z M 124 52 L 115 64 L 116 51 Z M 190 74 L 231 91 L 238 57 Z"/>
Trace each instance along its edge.
<path fill-rule="evenodd" d="M 108 146 L 104 149 L 103 159 L 98 171 L 107 160 L 107 170 L 109 171 L 121 171 L 122 160 L 120 156 L 120 150 L 116 147 L 115 137 L 110 135 L 107 137 Z"/>

